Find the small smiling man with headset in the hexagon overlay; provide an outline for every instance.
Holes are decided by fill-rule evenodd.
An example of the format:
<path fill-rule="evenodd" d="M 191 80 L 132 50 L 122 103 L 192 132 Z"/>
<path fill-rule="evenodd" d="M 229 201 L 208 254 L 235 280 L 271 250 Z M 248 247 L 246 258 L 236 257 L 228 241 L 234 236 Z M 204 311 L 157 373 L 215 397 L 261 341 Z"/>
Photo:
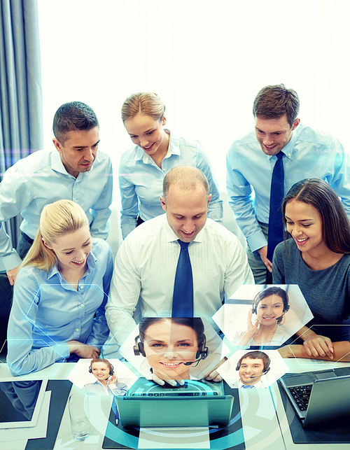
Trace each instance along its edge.
<path fill-rule="evenodd" d="M 233 388 L 266 388 L 261 377 L 269 372 L 271 361 L 263 351 L 249 351 L 241 357 L 236 370 L 239 372 L 239 381 Z"/>

